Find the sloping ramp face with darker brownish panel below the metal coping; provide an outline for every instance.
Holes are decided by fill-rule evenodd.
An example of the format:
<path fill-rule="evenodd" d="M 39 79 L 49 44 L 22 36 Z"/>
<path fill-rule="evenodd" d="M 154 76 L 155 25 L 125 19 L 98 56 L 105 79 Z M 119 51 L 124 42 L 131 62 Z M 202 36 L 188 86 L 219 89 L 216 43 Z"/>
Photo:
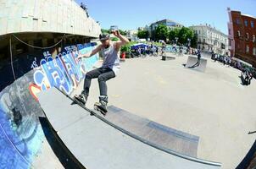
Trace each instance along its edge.
<path fill-rule="evenodd" d="M 109 106 L 107 120 L 142 139 L 182 155 L 197 157 L 199 137 L 136 116 L 116 106 Z"/>

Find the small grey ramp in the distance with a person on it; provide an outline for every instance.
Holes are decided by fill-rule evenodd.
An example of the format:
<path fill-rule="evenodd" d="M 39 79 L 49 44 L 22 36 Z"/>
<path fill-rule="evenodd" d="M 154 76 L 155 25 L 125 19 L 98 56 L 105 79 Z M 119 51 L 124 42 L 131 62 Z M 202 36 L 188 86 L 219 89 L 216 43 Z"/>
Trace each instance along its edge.
<path fill-rule="evenodd" d="M 193 70 L 198 70 L 204 72 L 207 64 L 207 59 L 201 57 L 200 62 L 198 62 L 198 57 L 188 56 L 186 62 L 186 68 L 191 68 Z"/>

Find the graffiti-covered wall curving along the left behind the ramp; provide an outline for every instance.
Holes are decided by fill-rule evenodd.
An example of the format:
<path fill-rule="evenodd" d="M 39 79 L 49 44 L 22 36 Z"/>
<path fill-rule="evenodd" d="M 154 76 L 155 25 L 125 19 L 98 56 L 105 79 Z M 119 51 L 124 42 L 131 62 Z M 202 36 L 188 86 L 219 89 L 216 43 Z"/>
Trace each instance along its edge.
<path fill-rule="evenodd" d="M 80 61 L 76 57 L 94 47 L 89 43 L 78 50 L 67 48 L 58 56 L 43 52 L 42 56 L 20 57 L 15 61 L 14 70 L 19 78 L 0 92 L 0 168 L 31 167 L 45 139 L 38 119 L 44 114 L 37 93 L 53 86 L 67 94 L 75 90 L 98 60 L 97 55 Z M 13 76 L 12 72 L 3 75 L 7 79 Z M 1 77 L 0 82 L 4 79 Z"/>

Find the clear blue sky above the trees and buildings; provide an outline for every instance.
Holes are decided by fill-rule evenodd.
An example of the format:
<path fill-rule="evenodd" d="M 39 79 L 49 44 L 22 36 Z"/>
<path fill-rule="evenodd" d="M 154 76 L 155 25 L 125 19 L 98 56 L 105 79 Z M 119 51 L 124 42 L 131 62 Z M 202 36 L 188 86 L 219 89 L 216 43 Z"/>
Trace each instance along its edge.
<path fill-rule="evenodd" d="M 227 34 L 227 7 L 256 17 L 256 0 L 75 0 L 86 4 L 90 16 L 101 27 L 118 25 L 122 30 L 136 30 L 160 19 L 172 19 L 185 26 L 210 24 Z"/>

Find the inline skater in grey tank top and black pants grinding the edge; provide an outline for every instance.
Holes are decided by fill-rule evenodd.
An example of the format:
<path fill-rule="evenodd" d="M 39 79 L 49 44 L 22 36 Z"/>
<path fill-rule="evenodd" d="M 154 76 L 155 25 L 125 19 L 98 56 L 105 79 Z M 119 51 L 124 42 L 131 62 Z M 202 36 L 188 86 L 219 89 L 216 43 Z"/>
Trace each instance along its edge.
<path fill-rule="evenodd" d="M 92 57 L 97 52 L 102 53 L 102 67 L 86 73 L 84 88 L 81 91 L 81 95 L 75 95 L 75 98 L 84 103 L 84 105 L 86 105 L 87 97 L 89 95 L 89 89 L 91 86 L 91 80 L 97 78 L 100 90 L 98 106 L 100 106 L 100 109 L 103 110 L 103 112 L 105 113 L 108 112 L 108 94 L 106 81 L 116 76 L 116 73 L 120 69 L 120 58 L 118 54 L 120 51 L 120 47 L 129 42 L 129 40 L 125 36 L 120 35 L 119 30 L 113 30 L 112 33 L 116 37 L 118 37 L 120 41 L 111 41 L 109 39 L 109 34 L 101 34 L 99 35 L 99 40 L 102 43 L 101 45 L 97 46 L 97 48 L 92 50 L 92 52 L 88 52 L 77 57 L 77 59 L 81 59 L 82 57 Z"/>

